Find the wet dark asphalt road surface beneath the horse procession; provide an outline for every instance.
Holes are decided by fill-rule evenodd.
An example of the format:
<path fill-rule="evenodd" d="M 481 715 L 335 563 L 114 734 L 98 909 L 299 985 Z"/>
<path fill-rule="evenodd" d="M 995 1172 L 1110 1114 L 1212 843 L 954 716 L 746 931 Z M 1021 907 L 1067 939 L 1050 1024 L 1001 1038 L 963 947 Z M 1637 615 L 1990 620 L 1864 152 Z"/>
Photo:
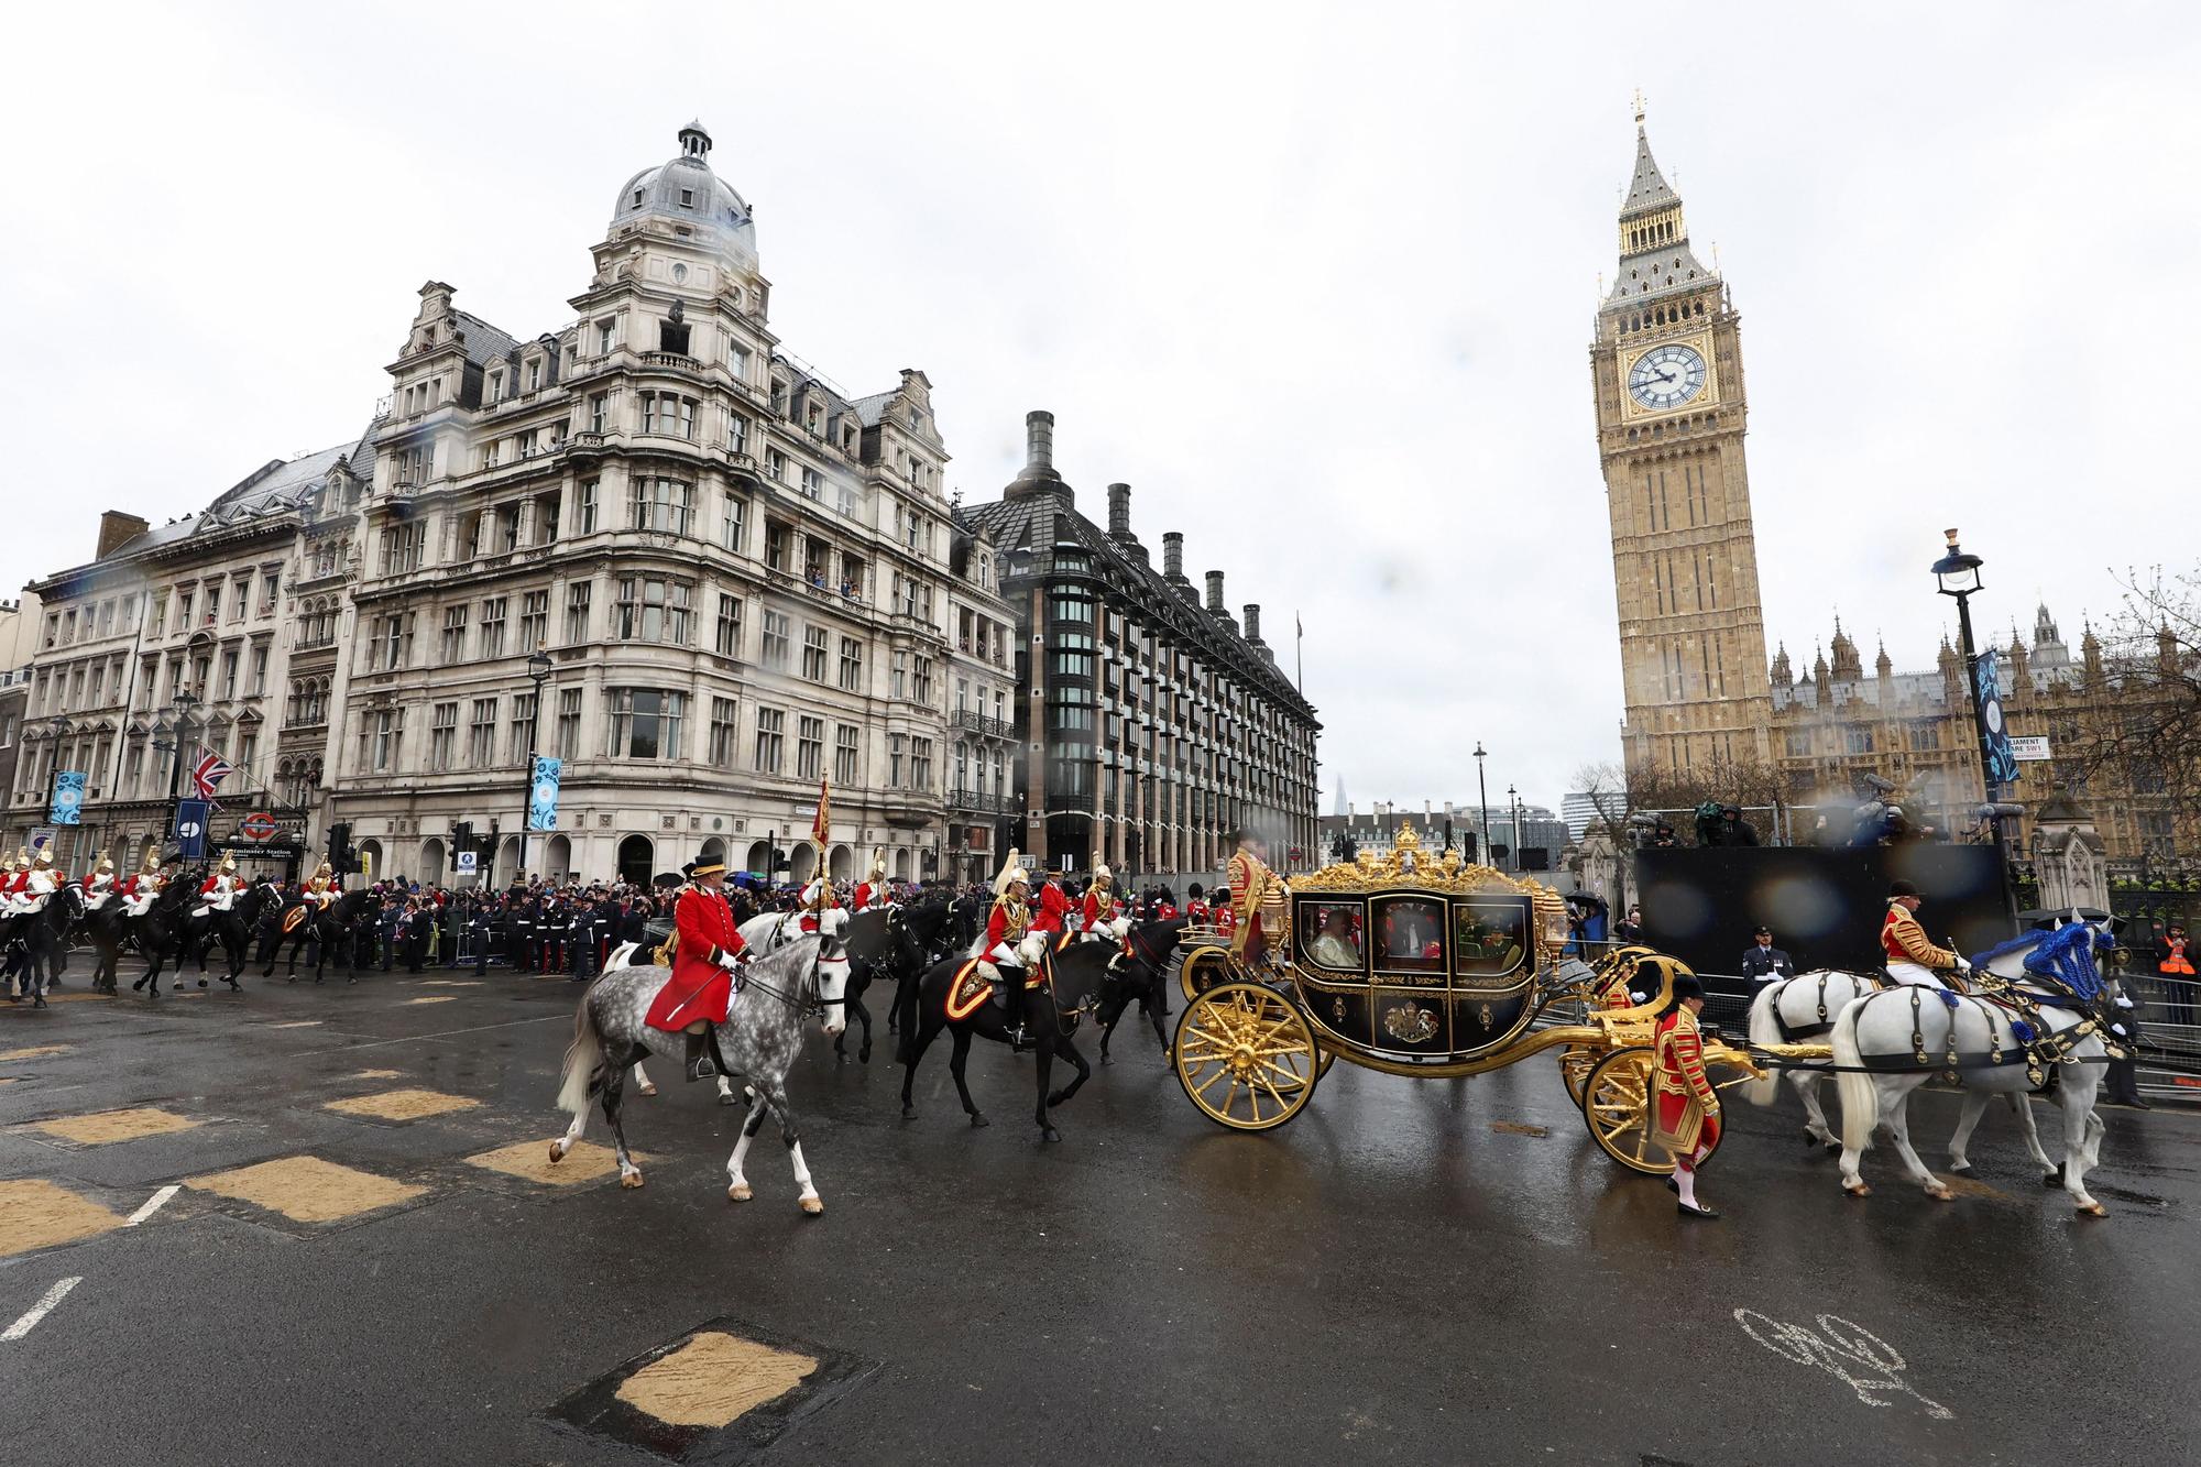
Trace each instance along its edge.
<path fill-rule="evenodd" d="M 971 1062 L 988 1130 L 964 1123 L 944 1046 L 902 1123 L 880 1026 L 872 1066 L 817 1042 L 797 1075 L 828 1205 L 806 1220 L 766 1141 L 757 1200 L 726 1200 L 742 1112 L 671 1064 L 658 1099 L 629 1101 L 651 1156 L 640 1192 L 467 1165 L 563 1128 L 550 1097 L 577 993 L 493 971 L 249 980 L 156 1011 L 128 993 L 0 1004 L 0 1053 L 68 1046 L 0 1062 L 15 1077 L 0 1181 L 128 1216 L 165 1183 L 313 1154 L 427 1189 L 299 1225 L 187 1187 L 141 1227 L 0 1258 L 0 1328 L 81 1278 L 0 1344 L 0 1460 L 663 1460 L 546 1412 L 711 1319 L 867 1370 L 766 1463 L 2186 1463 L 2201 1447 L 2194 1112 L 2106 1112 L 2091 1183 L 2113 1216 L 2080 1222 L 2005 1115 L 1981 1126 L 1959 1200 L 1924 1198 L 1875 1152 L 1880 1189 L 1855 1203 L 1787 1108 L 1730 1106 L 1706 1170 L 1728 1218 L 1693 1225 L 1589 1145 L 1550 1060 L 1420 1084 L 1340 1064 L 1299 1121 L 1241 1137 L 1200 1119 L 1127 1024 L 1043 1148 L 1030 1062 L 999 1048 Z M 480 1106 L 403 1126 L 324 1110 L 394 1086 Z M 22 1128 L 121 1106 L 207 1123 L 99 1148 Z M 1952 1119 L 1924 1095 L 1913 1134 L 1937 1145 Z M 691 1460 L 740 1460 L 711 1445 Z"/>

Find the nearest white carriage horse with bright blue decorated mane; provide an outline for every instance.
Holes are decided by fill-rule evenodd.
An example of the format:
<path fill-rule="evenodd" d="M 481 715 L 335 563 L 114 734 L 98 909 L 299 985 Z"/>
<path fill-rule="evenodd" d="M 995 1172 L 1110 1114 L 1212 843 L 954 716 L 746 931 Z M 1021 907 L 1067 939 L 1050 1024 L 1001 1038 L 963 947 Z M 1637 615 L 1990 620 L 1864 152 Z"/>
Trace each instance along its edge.
<path fill-rule="evenodd" d="M 1957 1075 L 1968 1093 L 1965 1123 L 1950 1150 L 1961 1154 L 1985 1097 L 2023 1097 L 2040 1088 L 2047 1066 L 2054 1066 L 2054 1095 L 2065 1119 L 2060 1176 L 2049 1170 L 2054 1163 L 2038 1143 L 2034 1154 L 2049 1170 L 2047 1181 L 2060 1183 L 2073 1207 L 2104 1216 L 2102 1205 L 2087 1194 L 2087 1172 L 2102 1154 L 2104 1128 L 2093 1104 L 2109 1062 L 2102 1033 L 2117 1022 L 2098 967 L 2098 954 L 2111 945 L 2109 932 L 2071 921 L 2056 932 L 2021 934 L 1974 958 L 1974 967 L 2012 982 L 2032 1002 L 2032 1015 L 1994 998 L 1910 985 L 1866 993 L 1842 1009 L 1831 1035 L 1842 1097 L 1842 1189 L 1851 1196 L 1871 1192 L 1858 1174 L 1858 1156 L 1871 1143 L 1873 1128 L 1886 1126 L 1910 1181 L 1926 1196 L 1946 1203 L 1948 1185 L 1910 1150 L 1910 1093 L 1935 1075 Z"/>

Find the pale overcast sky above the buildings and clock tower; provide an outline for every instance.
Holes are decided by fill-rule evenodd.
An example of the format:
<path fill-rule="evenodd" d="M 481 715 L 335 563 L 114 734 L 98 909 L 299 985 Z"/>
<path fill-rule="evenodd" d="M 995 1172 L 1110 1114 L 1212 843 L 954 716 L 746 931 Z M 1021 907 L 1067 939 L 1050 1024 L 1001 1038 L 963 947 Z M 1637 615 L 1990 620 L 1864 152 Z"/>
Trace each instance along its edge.
<path fill-rule="evenodd" d="M 2190 4 L 37 7 L 11 22 L 0 586 L 357 434 L 414 291 L 570 319 L 691 115 L 773 326 L 918 366 L 949 482 L 1028 408 L 1259 601 L 1356 802 L 1616 758 L 1589 403 L 1629 97 L 1743 313 L 1767 641 L 1926 667 L 2194 562 Z M 2023 729 L 2021 729 L 2023 731 Z M 1325 793 L 1325 811 L 1329 808 Z"/>

